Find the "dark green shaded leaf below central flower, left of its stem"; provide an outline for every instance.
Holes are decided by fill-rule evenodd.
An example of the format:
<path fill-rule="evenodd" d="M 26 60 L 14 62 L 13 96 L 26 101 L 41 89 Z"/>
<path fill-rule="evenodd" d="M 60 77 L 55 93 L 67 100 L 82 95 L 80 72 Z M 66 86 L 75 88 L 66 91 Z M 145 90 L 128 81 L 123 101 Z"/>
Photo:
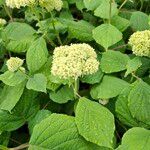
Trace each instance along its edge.
<path fill-rule="evenodd" d="M 72 87 L 63 86 L 55 92 L 49 93 L 50 99 L 52 99 L 56 103 L 67 103 L 69 100 L 74 99 L 74 91 Z"/>

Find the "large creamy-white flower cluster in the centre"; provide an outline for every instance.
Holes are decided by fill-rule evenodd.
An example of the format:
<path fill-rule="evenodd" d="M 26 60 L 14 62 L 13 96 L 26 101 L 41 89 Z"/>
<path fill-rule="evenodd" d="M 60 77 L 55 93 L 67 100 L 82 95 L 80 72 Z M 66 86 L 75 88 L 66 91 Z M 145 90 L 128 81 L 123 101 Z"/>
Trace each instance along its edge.
<path fill-rule="evenodd" d="M 72 44 L 55 48 L 51 73 L 62 79 L 77 79 L 98 71 L 99 62 L 88 44 Z"/>

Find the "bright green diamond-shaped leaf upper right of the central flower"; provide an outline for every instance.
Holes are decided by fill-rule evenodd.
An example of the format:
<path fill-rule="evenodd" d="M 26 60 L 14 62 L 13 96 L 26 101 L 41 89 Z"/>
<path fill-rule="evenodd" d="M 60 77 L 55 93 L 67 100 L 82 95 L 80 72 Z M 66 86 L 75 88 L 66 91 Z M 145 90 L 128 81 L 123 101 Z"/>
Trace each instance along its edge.
<path fill-rule="evenodd" d="M 110 24 L 102 24 L 93 30 L 93 38 L 105 49 L 122 39 L 122 33 Z"/>

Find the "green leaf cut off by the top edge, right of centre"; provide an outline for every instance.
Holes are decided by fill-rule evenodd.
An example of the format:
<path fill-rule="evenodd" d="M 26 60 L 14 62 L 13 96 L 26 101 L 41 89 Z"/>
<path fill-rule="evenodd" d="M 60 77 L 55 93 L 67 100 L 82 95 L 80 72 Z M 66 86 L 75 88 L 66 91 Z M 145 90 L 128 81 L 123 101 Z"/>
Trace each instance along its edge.
<path fill-rule="evenodd" d="M 95 10 L 103 0 L 83 0 L 85 7 L 88 10 Z"/>

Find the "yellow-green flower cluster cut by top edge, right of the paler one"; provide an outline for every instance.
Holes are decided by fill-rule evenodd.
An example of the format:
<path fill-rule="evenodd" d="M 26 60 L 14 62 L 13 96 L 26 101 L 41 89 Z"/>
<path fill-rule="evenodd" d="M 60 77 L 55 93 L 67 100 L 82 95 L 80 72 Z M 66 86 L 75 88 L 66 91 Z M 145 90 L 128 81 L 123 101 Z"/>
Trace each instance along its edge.
<path fill-rule="evenodd" d="M 39 4 L 48 11 L 53 11 L 54 9 L 60 11 L 63 6 L 62 0 L 39 0 Z"/>

